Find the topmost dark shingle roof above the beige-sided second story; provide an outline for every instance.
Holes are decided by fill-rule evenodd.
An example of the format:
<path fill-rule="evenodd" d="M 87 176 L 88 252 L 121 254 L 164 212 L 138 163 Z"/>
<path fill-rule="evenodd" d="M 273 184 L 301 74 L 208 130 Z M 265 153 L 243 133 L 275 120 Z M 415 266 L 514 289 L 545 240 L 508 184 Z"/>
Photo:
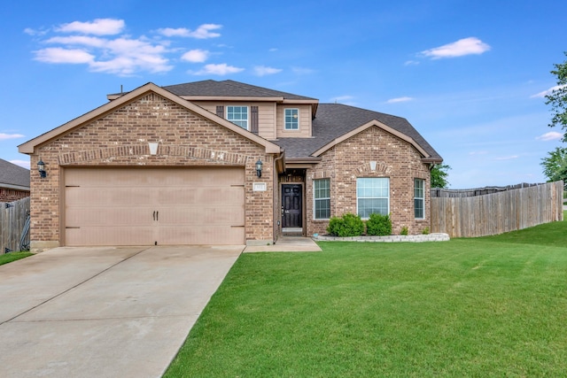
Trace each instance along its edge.
<path fill-rule="evenodd" d="M 243 96 L 243 97 L 283 97 L 291 100 L 314 100 L 315 98 L 298 96 L 279 90 L 256 87 L 238 81 L 195 81 L 162 87 L 177 96 Z"/>

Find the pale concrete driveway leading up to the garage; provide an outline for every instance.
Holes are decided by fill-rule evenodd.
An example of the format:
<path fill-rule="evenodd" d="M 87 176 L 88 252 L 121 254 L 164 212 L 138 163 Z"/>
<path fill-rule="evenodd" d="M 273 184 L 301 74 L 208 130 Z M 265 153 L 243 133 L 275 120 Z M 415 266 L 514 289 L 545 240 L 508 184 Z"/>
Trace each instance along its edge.
<path fill-rule="evenodd" d="M 0 266 L 0 376 L 161 376 L 243 249 L 63 247 Z"/>

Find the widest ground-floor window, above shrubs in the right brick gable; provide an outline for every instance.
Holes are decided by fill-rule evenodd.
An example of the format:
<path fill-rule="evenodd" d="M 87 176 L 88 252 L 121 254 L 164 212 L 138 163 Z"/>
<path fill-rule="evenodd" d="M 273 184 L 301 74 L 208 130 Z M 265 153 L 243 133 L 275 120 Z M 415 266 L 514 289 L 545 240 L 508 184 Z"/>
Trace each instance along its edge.
<path fill-rule="evenodd" d="M 356 205 L 358 215 L 368 219 L 370 214 L 388 215 L 390 213 L 390 179 L 359 178 L 356 179 Z"/>

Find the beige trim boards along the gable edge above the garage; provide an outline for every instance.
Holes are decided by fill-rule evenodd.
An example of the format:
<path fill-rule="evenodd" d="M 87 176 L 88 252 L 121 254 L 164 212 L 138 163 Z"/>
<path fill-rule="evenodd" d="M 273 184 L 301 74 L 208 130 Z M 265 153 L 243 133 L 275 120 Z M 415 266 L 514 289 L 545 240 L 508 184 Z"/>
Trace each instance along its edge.
<path fill-rule="evenodd" d="M 37 147 L 37 146 L 39 146 L 43 143 L 47 143 L 50 140 L 56 139 L 61 135 L 65 135 L 66 133 L 69 133 L 69 132 L 73 131 L 74 129 L 78 128 L 78 127 L 82 127 L 87 122 L 91 122 L 91 121 L 96 120 L 98 118 L 102 118 L 106 114 L 113 112 L 115 109 L 118 109 L 120 106 L 123 106 L 125 104 L 129 104 L 133 101 L 136 101 L 137 98 L 144 96 L 148 92 L 154 92 L 154 93 L 158 94 L 159 96 L 163 96 L 163 97 L 167 98 L 168 100 L 174 102 L 175 104 L 178 104 L 178 105 L 182 106 L 183 108 L 190 110 L 190 112 L 195 112 L 198 115 L 200 115 L 200 116 L 202 116 L 202 117 L 204 117 L 208 120 L 212 120 L 215 123 L 217 123 L 217 124 L 219 124 L 223 127 L 229 128 L 230 130 L 234 131 L 235 133 L 237 133 L 239 135 L 245 136 L 246 138 L 250 139 L 252 142 L 258 143 L 261 146 L 265 147 L 266 153 L 279 153 L 281 151 L 279 146 L 276 145 L 275 143 L 271 143 L 268 140 L 262 138 L 261 136 L 255 135 L 255 134 L 251 133 L 250 131 L 245 130 L 242 127 L 238 127 L 234 123 L 232 123 L 228 120 L 224 120 L 223 118 L 217 116 L 216 114 L 214 114 L 212 112 L 206 111 L 204 108 L 202 108 L 202 107 L 200 107 L 196 104 L 192 104 L 189 101 L 185 101 L 180 96 L 176 96 L 172 92 L 170 92 L 166 89 L 162 89 L 152 82 L 149 82 L 149 83 L 143 85 L 142 87 L 134 89 L 131 92 L 128 92 L 128 93 L 118 97 L 116 100 L 114 100 L 110 103 L 104 104 L 102 106 L 99 106 L 97 109 L 90 111 L 88 113 L 85 113 L 81 117 L 78 117 L 74 120 L 71 120 L 71 121 L 67 122 L 66 124 L 61 125 L 59 127 L 56 127 L 54 129 L 48 131 L 47 133 L 43 134 L 43 135 L 39 135 L 39 136 L 35 137 L 34 139 L 27 141 L 26 143 L 20 144 L 18 146 L 18 150 L 21 153 L 32 154 L 32 153 L 35 152 L 35 147 Z"/>

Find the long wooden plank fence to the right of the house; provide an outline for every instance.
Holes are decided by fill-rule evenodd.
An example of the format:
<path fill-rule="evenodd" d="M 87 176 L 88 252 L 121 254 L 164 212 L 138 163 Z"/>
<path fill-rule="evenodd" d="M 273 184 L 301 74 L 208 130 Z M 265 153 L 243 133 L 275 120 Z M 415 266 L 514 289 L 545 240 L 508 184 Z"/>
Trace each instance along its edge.
<path fill-rule="evenodd" d="M 431 189 L 431 232 L 498 235 L 563 220 L 563 181 L 512 187 Z"/>

